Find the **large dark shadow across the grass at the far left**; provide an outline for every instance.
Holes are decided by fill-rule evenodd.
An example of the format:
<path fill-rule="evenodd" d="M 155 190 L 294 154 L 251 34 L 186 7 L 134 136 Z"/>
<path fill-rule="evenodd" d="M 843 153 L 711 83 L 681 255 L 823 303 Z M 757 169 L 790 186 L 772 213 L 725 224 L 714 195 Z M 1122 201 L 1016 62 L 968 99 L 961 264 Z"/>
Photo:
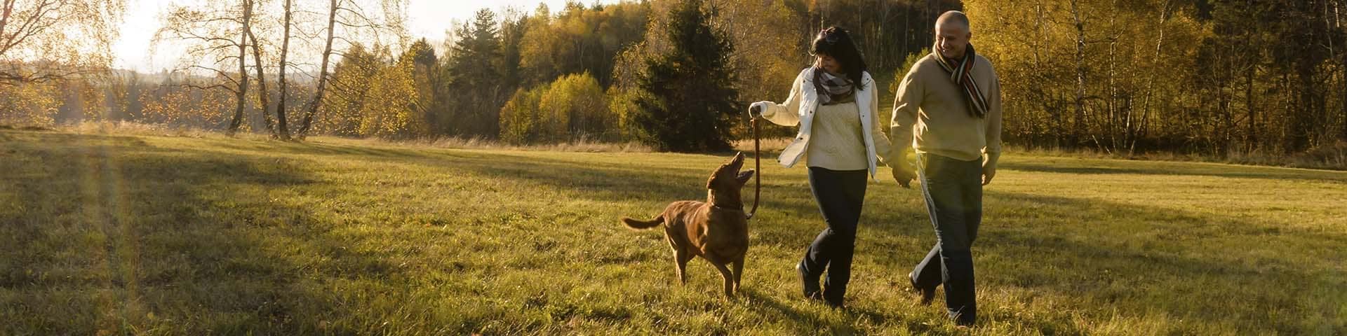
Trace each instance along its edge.
<path fill-rule="evenodd" d="M 16 157 L 0 163 L 0 190 L 19 204 L 0 207 L 0 333 L 313 333 L 350 313 L 323 281 L 399 271 L 286 202 L 321 183 L 303 167 L 133 137 L 7 136 L 19 141 L 0 142 Z"/>

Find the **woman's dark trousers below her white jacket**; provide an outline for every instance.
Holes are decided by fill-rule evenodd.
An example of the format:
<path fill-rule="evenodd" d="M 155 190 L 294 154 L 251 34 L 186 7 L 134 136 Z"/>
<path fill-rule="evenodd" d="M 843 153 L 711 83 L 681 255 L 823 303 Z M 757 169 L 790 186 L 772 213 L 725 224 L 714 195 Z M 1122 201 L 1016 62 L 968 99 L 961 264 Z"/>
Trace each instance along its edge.
<path fill-rule="evenodd" d="M 800 266 L 811 280 L 816 280 L 827 269 L 823 298 L 838 305 L 851 280 L 855 226 L 861 220 L 861 204 L 865 203 L 866 177 L 867 171 L 810 167 L 810 190 L 814 191 L 814 200 L 819 203 L 823 222 L 828 227 L 814 238 Z"/>

